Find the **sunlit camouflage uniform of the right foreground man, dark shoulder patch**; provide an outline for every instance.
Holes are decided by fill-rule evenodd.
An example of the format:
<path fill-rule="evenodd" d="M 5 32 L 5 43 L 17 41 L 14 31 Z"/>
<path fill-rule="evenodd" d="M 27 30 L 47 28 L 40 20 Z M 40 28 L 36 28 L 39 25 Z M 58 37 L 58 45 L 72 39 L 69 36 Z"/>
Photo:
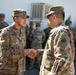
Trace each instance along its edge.
<path fill-rule="evenodd" d="M 64 26 L 55 27 L 46 43 L 40 75 L 74 74 L 74 41 L 71 31 Z"/>

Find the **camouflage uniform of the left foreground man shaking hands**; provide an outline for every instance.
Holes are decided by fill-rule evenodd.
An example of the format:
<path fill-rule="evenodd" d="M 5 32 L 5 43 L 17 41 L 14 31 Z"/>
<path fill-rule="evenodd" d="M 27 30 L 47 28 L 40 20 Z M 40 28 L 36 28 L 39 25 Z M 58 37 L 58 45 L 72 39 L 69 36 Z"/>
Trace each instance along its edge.
<path fill-rule="evenodd" d="M 0 75 L 22 75 L 25 71 L 25 31 L 12 25 L 4 28 L 0 37 L 4 40 L 0 50 Z"/>

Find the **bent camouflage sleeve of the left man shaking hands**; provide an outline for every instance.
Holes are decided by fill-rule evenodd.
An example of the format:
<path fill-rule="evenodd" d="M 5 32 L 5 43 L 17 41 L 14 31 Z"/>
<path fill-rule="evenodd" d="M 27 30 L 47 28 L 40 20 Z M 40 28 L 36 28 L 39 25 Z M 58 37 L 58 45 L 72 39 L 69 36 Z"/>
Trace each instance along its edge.
<path fill-rule="evenodd" d="M 1 33 L 1 50 L 2 50 L 2 55 L 4 58 L 12 58 L 12 59 L 20 59 L 24 56 L 24 50 L 19 50 L 19 49 L 13 49 L 10 46 L 10 37 L 9 33 L 7 32 L 2 32 Z"/>

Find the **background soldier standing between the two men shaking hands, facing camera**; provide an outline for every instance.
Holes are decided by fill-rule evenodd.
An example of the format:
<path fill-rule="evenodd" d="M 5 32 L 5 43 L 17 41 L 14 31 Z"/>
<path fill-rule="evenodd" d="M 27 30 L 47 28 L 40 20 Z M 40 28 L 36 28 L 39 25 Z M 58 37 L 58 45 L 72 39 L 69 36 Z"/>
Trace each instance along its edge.
<path fill-rule="evenodd" d="M 42 43 L 45 40 L 45 33 L 44 31 L 40 30 L 40 24 L 36 23 L 36 29 L 32 31 L 30 34 L 30 39 L 32 41 L 31 48 L 34 49 L 42 49 Z M 38 68 L 40 68 L 42 56 L 38 56 L 35 59 L 30 60 L 30 69 L 33 68 L 33 65 L 36 61 L 38 64 Z"/>

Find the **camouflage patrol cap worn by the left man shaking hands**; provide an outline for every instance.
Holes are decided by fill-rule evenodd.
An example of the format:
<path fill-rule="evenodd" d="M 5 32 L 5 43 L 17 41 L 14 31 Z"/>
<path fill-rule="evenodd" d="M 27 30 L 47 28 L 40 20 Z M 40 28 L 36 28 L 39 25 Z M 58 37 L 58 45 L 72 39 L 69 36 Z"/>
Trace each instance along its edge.
<path fill-rule="evenodd" d="M 15 17 L 15 16 L 20 16 L 20 17 L 25 17 L 26 16 L 26 18 L 29 18 L 29 16 L 27 15 L 26 11 L 23 10 L 23 9 L 15 9 L 15 10 L 13 10 L 12 17 Z"/>

